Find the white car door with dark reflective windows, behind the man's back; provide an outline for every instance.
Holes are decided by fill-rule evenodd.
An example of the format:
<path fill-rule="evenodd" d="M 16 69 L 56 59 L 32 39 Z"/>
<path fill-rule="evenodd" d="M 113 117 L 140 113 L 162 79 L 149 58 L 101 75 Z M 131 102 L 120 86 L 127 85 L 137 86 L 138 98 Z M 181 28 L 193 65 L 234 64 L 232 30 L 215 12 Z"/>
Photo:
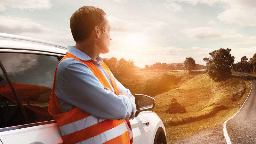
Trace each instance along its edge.
<path fill-rule="evenodd" d="M 60 58 L 58 54 L 37 53 L 40 54 L 0 52 L 3 144 L 63 143 L 59 127 L 48 113 L 54 70 Z"/>

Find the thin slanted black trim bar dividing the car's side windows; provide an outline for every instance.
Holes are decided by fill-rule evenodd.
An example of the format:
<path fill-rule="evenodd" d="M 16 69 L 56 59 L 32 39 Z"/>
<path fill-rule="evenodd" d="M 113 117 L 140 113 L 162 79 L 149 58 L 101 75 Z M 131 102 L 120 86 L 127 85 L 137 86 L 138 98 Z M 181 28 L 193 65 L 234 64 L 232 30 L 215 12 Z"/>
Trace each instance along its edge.
<path fill-rule="evenodd" d="M 5 68 L 4 68 L 4 66 L 3 66 L 3 64 L 2 64 L 2 62 L 1 62 L 1 60 L 0 60 L 0 67 L 1 67 L 1 69 L 2 69 L 2 71 L 3 71 L 3 73 L 4 73 L 5 78 L 6 78 L 7 81 L 8 81 L 10 87 L 12 88 L 12 92 L 13 92 L 13 94 L 14 94 L 14 96 L 15 96 L 17 102 L 18 102 L 18 106 L 19 106 L 20 109 L 21 109 L 21 112 L 22 112 L 22 114 L 23 114 L 23 116 L 24 116 L 24 118 L 25 118 L 25 120 L 26 120 L 26 123 L 27 123 L 27 124 L 30 124 L 29 119 L 28 119 L 28 116 L 27 116 L 27 113 L 26 113 L 26 111 L 25 111 L 25 109 L 24 109 L 24 107 L 23 107 L 23 105 L 22 105 L 22 103 L 21 103 L 21 100 L 20 100 L 20 97 L 19 97 L 19 95 L 18 95 L 18 92 L 16 91 L 14 85 L 12 84 L 12 81 L 11 81 L 9 75 L 7 74 L 7 72 L 6 72 Z"/>

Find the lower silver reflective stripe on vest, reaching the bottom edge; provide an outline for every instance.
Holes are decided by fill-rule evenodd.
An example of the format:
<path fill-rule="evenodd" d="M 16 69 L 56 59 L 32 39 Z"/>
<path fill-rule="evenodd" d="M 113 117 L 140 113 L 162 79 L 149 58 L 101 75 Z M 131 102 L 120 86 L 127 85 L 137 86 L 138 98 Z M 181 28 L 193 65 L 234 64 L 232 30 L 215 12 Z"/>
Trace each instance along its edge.
<path fill-rule="evenodd" d="M 128 131 L 126 124 L 122 123 L 106 132 L 102 132 L 99 135 L 96 135 L 90 139 L 78 142 L 76 144 L 103 144 L 104 142 L 106 142 L 108 140 L 112 140 L 112 139 L 122 135 L 126 131 Z"/>

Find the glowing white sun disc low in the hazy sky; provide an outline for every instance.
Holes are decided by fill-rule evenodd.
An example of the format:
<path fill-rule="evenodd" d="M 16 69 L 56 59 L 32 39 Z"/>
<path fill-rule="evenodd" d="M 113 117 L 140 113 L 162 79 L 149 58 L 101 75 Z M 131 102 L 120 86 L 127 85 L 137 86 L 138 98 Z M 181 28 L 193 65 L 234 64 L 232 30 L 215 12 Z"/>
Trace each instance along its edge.
<path fill-rule="evenodd" d="M 145 44 L 146 37 L 142 34 L 129 34 L 126 37 L 127 43 L 131 46 L 141 46 Z"/>

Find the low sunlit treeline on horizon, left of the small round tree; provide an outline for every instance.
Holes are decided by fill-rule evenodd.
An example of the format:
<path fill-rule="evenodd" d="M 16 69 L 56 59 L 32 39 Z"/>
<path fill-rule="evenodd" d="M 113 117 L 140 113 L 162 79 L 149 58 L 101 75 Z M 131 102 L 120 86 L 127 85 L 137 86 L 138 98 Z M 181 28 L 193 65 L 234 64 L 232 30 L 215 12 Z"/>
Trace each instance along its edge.
<path fill-rule="evenodd" d="M 145 68 L 141 68 L 141 70 L 154 70 L 154 69 L 170 69 L 170 70 L 181 70 L 181 65 L 180 64 L 166 64 L 166 63 L 160 63 L 156 62 L 153 65 L 145 65 Z"/>

